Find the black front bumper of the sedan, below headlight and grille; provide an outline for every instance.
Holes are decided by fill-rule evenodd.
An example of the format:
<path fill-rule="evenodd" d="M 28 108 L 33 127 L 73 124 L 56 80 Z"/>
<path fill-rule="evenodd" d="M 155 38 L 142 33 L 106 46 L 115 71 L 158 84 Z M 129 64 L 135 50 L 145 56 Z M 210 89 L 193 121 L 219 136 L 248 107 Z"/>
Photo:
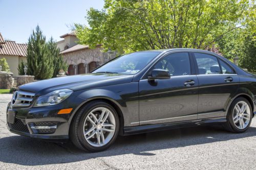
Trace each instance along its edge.
<path fill-rule="evenodd" d="M 58 105 L 30 108 L 12 108 L 9 103 L 6 113 L 7 128 L 12 133 L 33 138 L 54 141 L 68 139 L 72 114 L 78 107 L 77 103 L 81 102 L 78 100 L 71 95 L 70 98 Z M 73 110 L 69 114 L 57 114 L 59 110 L 66 108 L 73 108 Z M 10 113 L 13 114 L 13 122 L 10 121 L 10 118 L 8 120 L 8 116 L 12 116 Z M 44 129 L 44 127 L 46 128 Z"/>

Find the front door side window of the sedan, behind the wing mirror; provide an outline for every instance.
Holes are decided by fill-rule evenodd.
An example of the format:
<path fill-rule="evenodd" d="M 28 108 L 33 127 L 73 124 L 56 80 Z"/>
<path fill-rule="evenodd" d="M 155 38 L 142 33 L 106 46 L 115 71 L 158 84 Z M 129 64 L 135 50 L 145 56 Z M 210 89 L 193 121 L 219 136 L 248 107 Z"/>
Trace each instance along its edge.
<path fill-rule="evenodd" d="M 158 61 L 154 69 L 168 70 L 171 76 L 190 75 L 189 55 L 186 52 L 169 54 Z"/>

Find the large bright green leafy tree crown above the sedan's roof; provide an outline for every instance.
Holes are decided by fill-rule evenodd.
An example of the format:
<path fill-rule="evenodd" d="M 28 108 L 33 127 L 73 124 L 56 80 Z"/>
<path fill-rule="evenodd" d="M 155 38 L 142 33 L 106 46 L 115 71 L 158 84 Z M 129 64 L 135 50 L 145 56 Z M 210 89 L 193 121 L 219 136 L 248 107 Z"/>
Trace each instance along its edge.
<path fill-rule="evenodd" d="M 236 28 L 247 0 L 105 0 L 91 8 L 90 27 L 76 25 L 82 44 L 125 52 L 157 48 L 209 48 Z"/>

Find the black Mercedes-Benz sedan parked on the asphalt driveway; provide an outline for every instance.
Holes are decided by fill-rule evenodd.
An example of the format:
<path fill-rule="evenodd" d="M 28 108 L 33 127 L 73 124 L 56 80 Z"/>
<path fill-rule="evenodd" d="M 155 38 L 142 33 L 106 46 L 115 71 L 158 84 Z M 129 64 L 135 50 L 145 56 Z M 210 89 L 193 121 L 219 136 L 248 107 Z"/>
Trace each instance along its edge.
<path fill-rule="evenodd" d="M 256 113 L 256 76 L 224 57 L 195 49 L 126 54 L 91 74 L 16 89 L 7 127 L 34 138 L 70 139 L 98 152 L 118 135 L 222 124 L 245 132 Z"/>

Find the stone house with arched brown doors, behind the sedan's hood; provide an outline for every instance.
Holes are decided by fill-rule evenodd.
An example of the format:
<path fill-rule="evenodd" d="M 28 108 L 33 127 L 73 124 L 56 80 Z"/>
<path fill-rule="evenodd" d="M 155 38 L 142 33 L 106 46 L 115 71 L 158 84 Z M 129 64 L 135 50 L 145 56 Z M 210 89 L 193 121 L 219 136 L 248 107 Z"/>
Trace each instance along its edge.
<path fill-rule="evenodd" d="M 69 75 L 91 72 L 116 55 L 115 52 L 113 54 L 103 53 L 100 45 L 91 49 L 88 45 L 78 44 L 75 31 L 64 34 L 60 38 L 64 39 L 57 42 L 57 47 L 63 59 L 69 64 Z"/>

